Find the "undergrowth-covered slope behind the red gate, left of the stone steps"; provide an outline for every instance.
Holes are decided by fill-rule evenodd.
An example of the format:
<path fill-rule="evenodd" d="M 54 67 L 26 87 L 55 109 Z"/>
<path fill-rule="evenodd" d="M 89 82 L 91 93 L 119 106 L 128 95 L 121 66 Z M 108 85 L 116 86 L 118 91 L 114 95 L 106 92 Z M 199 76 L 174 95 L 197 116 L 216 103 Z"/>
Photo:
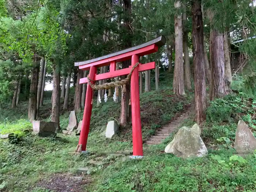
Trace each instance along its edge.
<path fill-rule="evenodd" d="M 174 95 L 172 90 L 150 91 L 143 93 L 140 97 L 140 114 L 142 120 L 143 140 L 153 135 L 157 129 L 172 120 L 177 112 L 185 110 L 191 104 L 191 94 L 186 96 Z M 119 120 L 120 103 L 115 103 L 112 98 L 101 106 L 96 106 L 94 99 L 91 115 L 90 131 L 102 133 L 106 129 L 108 121 Z M 60 127 L 66 128 L 68 125 L 68 115 L 65 113 L 60 117 Z M 82 120 L 83 112 L 77 114 L 78 121 Z M 132 140 L 131 122 L 125 128 L 120 129 L 119 135 L 113 138 L 120 141 Z"/>

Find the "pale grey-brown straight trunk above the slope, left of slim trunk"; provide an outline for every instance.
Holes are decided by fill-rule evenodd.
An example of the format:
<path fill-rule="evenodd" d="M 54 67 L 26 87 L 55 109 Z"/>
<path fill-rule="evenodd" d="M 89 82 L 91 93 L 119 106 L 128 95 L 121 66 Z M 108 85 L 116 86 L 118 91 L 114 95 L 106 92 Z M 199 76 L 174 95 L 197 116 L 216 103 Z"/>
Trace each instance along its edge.
<path fill-rule="evenodd" d="M 174 7 L 179 9 L 181 1 L 176 1 Z M 175 25 L 175 65 L 173 78 L 173 92 L 176 95 L 185 95 L 184 90 L 184 66 L 183 66 L 183 45 L 182 45 L 182 18 L 181 15 L 174 16 Z"/>

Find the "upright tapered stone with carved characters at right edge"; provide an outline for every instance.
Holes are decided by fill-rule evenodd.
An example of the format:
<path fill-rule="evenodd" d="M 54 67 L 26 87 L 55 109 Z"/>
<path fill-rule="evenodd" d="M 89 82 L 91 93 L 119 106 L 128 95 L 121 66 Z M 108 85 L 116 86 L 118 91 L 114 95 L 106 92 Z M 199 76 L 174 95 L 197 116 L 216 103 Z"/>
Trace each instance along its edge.
<path fill-rule="evenodd" d="M 243 120 L 237 125 L 235 149 L 238 154 L 247 154 L 256 150 L 256 138 Z"/>

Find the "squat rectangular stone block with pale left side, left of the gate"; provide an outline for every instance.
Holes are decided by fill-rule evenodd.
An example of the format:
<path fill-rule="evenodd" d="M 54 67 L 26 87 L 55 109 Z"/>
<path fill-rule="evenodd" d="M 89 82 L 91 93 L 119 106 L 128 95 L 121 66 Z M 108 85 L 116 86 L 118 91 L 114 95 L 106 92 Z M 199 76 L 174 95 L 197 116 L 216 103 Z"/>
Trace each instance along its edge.
<path fill-rule="evenodd" d="M 33 133 L 39 137 L 52 137 L 57 135 L 58 124 L 56 122 L 33 121 Z"/>

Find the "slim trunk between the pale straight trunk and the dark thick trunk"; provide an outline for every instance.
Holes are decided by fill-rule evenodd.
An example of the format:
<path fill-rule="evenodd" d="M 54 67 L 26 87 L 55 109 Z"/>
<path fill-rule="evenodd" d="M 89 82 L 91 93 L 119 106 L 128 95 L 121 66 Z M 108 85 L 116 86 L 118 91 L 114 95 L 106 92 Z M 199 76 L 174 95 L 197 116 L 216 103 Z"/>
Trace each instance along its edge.
<path fill-rule="evenodd" d="M 188 30 L 187 30 L 187 13 L 186 6 L 183 7 L 183 53 L 184 53 L 184 63 L 185 63 L 185 86 L 188 90 L 191 90 L 191 74 L 190 74 L 190 63 L 188 54 Z"/>

